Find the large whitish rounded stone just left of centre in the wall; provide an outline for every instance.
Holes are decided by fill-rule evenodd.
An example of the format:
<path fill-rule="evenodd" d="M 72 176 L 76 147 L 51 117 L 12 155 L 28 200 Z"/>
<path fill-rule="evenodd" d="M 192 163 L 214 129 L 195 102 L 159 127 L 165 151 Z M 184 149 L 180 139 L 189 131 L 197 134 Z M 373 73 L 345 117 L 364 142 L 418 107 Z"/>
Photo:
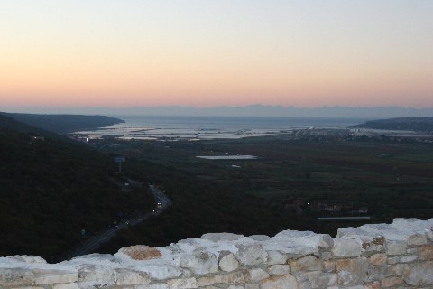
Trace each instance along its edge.
<path fill-rule="evenodd" d="M 200 252 L 180 256 L 180 266 L 189 268 L 195 274 L 204 275 L 218 271 L 218 260 L 215 254 Z"/>

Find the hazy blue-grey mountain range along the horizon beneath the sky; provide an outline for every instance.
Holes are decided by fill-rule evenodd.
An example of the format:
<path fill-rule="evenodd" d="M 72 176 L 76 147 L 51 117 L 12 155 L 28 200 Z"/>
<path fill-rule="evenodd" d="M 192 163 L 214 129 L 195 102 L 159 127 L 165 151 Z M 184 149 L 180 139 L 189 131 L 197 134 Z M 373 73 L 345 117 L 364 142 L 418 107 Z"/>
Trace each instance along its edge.
<path fill-rule="evenodd" d="M 34 108 L 25 112 L 86 115 L 148 115 L 148 116 L 220 116 L 220 117 L 347 117 L 347 118 L 391 118 L 433 117 L 433 107 L 282 107 L 251 105 L 243 107 L 57 107 Z"/>

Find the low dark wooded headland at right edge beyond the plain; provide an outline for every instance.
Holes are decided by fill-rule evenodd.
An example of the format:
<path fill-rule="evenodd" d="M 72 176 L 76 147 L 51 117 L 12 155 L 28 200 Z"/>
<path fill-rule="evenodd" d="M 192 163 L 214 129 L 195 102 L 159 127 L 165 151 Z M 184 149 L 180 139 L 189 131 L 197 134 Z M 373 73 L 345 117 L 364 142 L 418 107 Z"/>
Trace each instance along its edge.
<path fill-rule="evenodd" d="M 433 117 L 397 117 L 367 121 L 354 127 L 433 132 Z"/>

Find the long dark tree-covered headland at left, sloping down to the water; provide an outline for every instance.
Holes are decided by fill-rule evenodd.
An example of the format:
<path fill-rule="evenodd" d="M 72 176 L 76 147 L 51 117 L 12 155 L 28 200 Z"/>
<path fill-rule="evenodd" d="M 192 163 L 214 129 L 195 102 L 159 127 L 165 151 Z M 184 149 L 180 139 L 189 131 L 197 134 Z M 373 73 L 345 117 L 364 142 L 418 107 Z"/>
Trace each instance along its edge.
<path fill-rule="evenodd" d="M 12 117 L 14 120 L 23 124 L 38 127 L 57 134 L 65 134 L 103 126 L 112 126 L 124 122 L 122 119 L 105 116 L 35 115 L 4 112 L 0 112 L 0 115 Z"/>

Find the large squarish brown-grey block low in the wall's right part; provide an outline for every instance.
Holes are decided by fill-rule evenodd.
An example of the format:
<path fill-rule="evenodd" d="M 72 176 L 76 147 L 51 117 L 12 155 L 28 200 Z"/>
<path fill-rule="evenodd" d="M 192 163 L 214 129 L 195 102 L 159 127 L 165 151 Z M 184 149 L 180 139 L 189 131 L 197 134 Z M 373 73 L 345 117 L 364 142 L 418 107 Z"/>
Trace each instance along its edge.
<path fill-rule="evenodd" d="M 368 262 L 364 257 L 336 260 L 339 285 L 362 284 L 367 278 L 367 270 Z"/>

